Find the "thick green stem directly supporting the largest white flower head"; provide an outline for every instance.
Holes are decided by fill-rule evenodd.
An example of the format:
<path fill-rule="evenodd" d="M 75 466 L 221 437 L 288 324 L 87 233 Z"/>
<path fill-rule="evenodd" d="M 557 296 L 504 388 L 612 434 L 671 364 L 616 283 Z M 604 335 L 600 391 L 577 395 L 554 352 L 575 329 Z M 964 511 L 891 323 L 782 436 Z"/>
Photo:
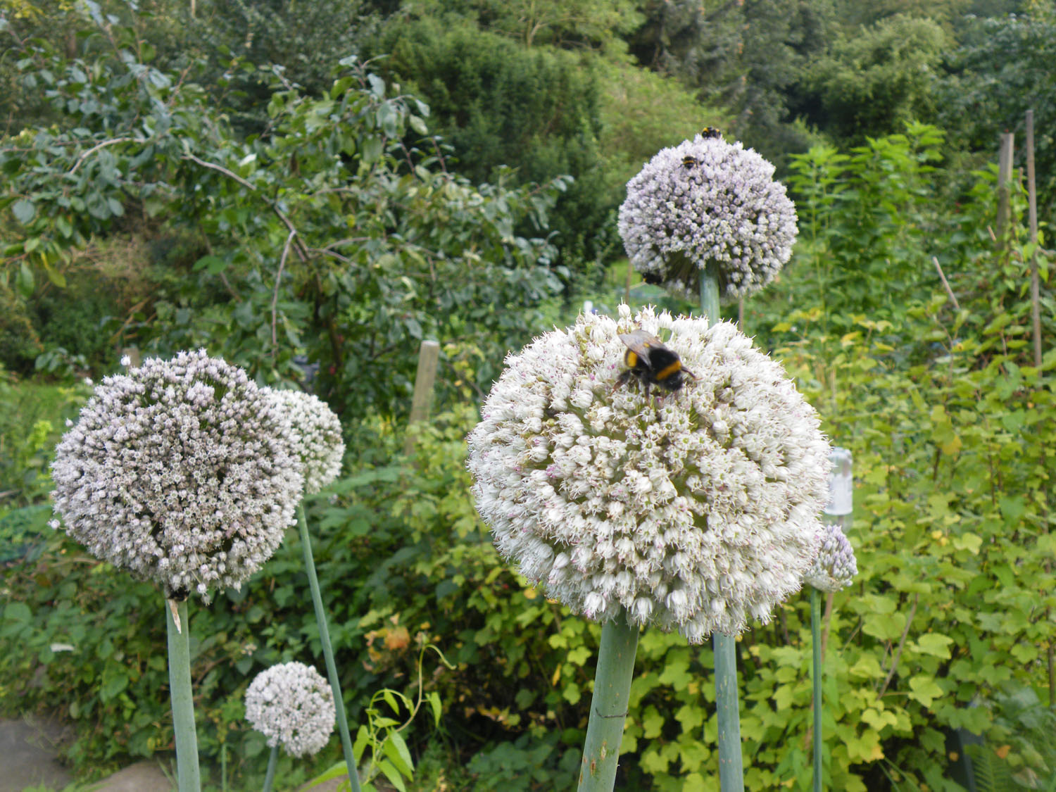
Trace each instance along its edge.
<path fill-rule="evenodd" d="M 616 784 L 637 650 L 638 627 L 627 624 L 625 612 L 605 622 L 598 648 L 587 738 L 583 743 L 579 792 L 611 792 Z"/>

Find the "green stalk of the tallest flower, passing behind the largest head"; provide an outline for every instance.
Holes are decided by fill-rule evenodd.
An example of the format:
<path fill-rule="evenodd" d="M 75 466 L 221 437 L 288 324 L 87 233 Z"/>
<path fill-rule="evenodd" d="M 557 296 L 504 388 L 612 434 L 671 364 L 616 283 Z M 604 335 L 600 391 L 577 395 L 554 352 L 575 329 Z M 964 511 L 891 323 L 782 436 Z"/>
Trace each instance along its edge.
<path fill-rule="evenodd" d="M 700 274 L 700 310 L 709 325 L 719 321 L 718 267 L 708 262 Z M 722 792 L 743 792 L 740 754 L 740 708 L 737 703 L 737 639 L 712 634 L 715 650 L 715 710 L 719 718 L 719 786 Z"/>

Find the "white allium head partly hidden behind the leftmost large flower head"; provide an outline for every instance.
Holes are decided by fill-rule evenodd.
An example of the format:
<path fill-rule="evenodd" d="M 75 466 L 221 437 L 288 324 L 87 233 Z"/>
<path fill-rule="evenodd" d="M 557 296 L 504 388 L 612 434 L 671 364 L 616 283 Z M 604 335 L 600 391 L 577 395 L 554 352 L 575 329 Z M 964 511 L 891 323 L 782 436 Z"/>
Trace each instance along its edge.
<path fill-rule="evenodd" d="M 341 421 L 318 396 L 302 391 L 265 390 L 289 419 L 290 452 L 304 464 L 304 494 L 319 492 L 341 472 Z"/>

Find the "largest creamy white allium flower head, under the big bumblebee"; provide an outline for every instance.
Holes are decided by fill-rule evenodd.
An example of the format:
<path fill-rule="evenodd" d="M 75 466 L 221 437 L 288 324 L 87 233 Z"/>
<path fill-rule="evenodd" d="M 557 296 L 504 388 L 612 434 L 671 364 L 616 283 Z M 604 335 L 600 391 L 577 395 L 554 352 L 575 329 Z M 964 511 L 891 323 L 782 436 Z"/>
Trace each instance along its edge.
<path fill-rule="evenodd" d="M 659 335 L 699 379 L 614 390 L 619 335 Z M 768 621 L 817 552 L 829 444 L 781 366 L 729 323 L 588 314 L 507 359 L 469 436 L 495 545 L 590 619 L 713 630 Z"/>

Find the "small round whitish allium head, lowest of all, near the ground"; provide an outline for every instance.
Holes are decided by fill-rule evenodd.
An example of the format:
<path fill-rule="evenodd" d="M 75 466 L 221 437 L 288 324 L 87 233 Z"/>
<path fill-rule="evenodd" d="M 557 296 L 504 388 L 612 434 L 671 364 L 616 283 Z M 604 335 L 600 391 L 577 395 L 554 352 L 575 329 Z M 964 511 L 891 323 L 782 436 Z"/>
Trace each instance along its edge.
<path fill-rule="evenodd" d="M 337 711 L 329 683 L 304 663 L 280 663 L 262 671 L 246 690 L 246 720 L 290 756 L 319 753 Z"/>

